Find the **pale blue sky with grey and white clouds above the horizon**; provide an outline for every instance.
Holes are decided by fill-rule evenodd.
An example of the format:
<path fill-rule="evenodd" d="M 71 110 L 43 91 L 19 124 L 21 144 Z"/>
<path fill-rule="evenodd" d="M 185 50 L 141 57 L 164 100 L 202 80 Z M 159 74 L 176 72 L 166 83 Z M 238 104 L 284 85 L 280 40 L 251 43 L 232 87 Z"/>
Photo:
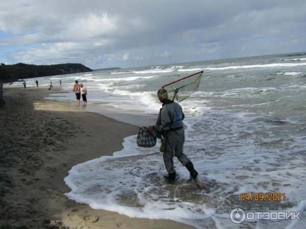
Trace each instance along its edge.
<path fill-rule="evenodd" d="M 304 0 L 0 0 L 0 62 L 139 67 L 306 51 Z"/>

